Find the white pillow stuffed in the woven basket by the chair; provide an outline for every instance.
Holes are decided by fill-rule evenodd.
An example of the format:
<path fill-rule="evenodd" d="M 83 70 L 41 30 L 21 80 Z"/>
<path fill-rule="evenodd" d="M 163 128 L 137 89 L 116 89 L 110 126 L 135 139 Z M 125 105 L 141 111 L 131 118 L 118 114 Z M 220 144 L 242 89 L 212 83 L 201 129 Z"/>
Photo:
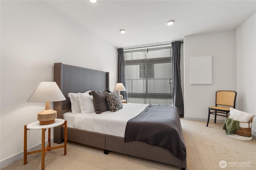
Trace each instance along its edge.
<path fill-rule="evenodd" d="M 231 118 L 233 120 L 248 122 L 248 121 L 250 121 L 250 118 L 254 117 L 254 116 L 256 116 L 256 115 L 246 113 L 244 111 L 240 111 L 240 110 L 230 107 L 229 118 Z"/>

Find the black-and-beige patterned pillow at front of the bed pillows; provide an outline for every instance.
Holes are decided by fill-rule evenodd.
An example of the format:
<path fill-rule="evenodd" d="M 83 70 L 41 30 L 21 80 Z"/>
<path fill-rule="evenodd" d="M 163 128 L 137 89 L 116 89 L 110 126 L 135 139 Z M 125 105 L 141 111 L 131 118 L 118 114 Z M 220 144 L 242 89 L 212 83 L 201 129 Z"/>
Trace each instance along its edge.
<path fill-rule="evenodd" d="M 118 91 L 106 93 L 106 100 L 109 111 L 111 112 L 115 112 L 123 108 Z"/>

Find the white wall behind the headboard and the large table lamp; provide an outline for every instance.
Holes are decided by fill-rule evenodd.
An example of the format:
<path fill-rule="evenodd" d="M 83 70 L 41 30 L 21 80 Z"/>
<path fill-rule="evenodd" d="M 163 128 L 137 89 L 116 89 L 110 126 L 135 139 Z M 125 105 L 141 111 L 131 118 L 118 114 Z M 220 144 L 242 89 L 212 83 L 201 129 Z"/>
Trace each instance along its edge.
<path fill-rule="evenodd" d="M 117 49 L 44 1 L 0 3 L 2 167 L 23 152 L 24 125 L 37 121 L 45 106 L 26 100 L 40 81 L 53 81 L 54 63 L 109 71 L 114 88 Z M 29 147 L 40 140 L 41 131 L 31 131 Z"/>

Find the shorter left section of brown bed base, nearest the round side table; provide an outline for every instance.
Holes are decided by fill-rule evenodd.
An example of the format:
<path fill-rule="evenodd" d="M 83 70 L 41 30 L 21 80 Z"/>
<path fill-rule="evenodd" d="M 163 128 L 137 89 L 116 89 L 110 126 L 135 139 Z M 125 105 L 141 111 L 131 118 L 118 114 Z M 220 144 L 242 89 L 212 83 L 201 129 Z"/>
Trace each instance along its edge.
<path fill-rule="evenodd" d="M 62 127 L 62 138 L 64 139 L 64 127 Z M 68 127 L 67 140 L 105 149 L 105 134 L 84 131 Z"/>

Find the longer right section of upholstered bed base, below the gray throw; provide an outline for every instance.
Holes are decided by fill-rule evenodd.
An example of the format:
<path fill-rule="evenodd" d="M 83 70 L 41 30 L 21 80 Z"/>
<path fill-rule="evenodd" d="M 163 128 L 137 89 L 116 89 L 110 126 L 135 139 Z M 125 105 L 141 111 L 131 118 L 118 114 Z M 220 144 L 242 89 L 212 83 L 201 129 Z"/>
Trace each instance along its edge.
<path fill-rule="evenodd" d="M 167 149 L 145 142 L 125 143 L 122 137 L 106 135 L 106 150 L 186 168 L 186 160 L 173 156 Z"/>

